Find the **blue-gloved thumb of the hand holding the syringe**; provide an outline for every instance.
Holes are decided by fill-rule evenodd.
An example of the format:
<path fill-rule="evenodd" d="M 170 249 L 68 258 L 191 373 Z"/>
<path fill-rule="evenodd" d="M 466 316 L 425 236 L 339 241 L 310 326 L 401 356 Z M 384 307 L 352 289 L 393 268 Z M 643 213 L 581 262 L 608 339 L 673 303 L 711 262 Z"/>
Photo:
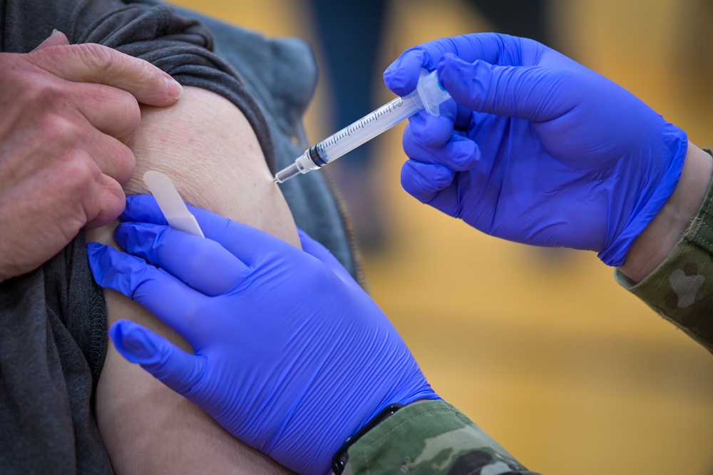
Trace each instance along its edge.
<path fill-rule="evenodd" d="M 561 83 L 548 68 L 468 63 L 452 55 L 438 63 L 438 80 L 463 107 L 528 121 L 552 118 Z"/>

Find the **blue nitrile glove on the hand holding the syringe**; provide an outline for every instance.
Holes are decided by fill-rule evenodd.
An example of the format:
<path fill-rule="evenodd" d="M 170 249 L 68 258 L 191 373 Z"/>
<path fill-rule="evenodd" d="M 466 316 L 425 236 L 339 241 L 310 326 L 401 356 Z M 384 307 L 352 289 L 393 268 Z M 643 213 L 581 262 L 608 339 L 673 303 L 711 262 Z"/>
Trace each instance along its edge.
<path fill-rule="evenodd" d="M 384 72 L 386 86 L 405 96 L 421 67 L 438 70 L 455 102 L 406 127 L 406 191 L 490 235 L 623 264 L 678 183 L 684 131 L 529 39 L 431 41 L 401 54 Z"/>

